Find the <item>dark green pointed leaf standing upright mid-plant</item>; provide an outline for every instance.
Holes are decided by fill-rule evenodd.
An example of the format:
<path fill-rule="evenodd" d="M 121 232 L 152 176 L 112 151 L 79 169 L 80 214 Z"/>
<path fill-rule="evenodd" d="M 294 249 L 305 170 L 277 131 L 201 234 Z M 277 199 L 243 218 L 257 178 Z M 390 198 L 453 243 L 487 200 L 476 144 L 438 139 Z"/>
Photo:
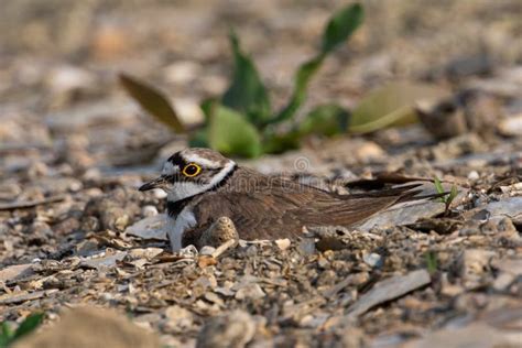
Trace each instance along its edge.
<path fill-rule="evenodd" d="M 252 123 L 262 124 L 272 113 L 269 94 L 252 59 L 241 52 L 239 39 L 233 31 L 230 32 L 230 44 L 235 62 L 233 77 L 222 96 L 222 105 L 246 115 Z"/>

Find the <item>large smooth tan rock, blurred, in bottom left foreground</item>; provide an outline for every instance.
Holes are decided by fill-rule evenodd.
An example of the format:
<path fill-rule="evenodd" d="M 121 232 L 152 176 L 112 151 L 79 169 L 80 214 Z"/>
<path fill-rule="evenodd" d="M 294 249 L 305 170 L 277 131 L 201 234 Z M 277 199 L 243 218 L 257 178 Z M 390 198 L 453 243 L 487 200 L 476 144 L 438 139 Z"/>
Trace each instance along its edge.
<path fill-rule="evenodd" d="M 160 347 L 159 339 L 115 312 L 78 307 L 62 315 L 54 326 L 17 341 L 17 348 Z"/>

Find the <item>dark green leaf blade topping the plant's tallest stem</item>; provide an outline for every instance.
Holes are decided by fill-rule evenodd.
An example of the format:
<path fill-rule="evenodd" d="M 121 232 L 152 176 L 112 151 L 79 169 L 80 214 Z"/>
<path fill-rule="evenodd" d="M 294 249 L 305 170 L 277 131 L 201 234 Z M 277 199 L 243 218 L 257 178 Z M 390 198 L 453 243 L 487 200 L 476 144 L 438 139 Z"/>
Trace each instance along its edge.
<path fill-rule="evenodd" d="M 323 54 L 327 54 L 345 42 L 362 23 L 365 11 L 359 3 L 336 12 L 323 33 Z"/>

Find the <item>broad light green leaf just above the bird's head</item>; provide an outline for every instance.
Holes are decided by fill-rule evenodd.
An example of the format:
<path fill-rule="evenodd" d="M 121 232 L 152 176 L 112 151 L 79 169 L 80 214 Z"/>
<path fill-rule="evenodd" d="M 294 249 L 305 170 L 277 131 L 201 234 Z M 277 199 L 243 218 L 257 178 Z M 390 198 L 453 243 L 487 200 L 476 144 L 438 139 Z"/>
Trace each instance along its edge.
<path fill-rule="evenodd" d="M 241 113 L 216 105 L 208 124 L 210 148 L 224 154 L 255 157 L 261 154 L 261 137 Z"/>

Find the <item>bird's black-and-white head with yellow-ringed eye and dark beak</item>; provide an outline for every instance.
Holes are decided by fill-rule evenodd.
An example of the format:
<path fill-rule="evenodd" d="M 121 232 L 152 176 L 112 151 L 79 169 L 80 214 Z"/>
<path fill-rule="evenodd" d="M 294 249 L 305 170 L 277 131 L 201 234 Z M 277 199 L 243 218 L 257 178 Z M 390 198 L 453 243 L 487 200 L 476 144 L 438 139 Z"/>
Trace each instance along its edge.
<path fill-rule="evenodd" d="M 162 188 L 167 199 L 177 202 L 213 189 L 236 168 L 236 162 L 209 149 L 185 149 L 174 153 L 162 174 L 140 191 Z"/>

